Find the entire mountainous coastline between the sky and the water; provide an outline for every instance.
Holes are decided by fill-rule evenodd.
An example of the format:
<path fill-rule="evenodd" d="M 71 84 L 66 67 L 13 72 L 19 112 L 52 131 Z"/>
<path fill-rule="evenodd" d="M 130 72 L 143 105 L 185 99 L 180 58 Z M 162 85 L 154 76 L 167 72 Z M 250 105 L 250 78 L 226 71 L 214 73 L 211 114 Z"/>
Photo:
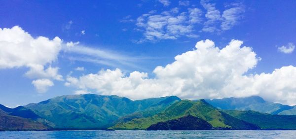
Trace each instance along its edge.
<path fill-rule="evenodd" d="M 0 131 L 296 130 L 296 106 L 258 96 L 133 101 L 95 94 L 59 96 L 16 108 L 0 105 Z"/>

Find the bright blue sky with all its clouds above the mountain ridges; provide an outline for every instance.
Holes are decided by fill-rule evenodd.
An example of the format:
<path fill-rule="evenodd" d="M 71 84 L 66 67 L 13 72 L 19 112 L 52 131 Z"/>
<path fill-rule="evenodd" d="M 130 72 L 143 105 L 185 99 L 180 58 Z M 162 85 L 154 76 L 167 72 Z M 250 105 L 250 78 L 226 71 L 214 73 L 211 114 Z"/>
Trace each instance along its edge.
<path fill-rule="evenodd" d="M 0 1 L 0 104 L 94 93 L 296 103 L 295 0 Z"/>

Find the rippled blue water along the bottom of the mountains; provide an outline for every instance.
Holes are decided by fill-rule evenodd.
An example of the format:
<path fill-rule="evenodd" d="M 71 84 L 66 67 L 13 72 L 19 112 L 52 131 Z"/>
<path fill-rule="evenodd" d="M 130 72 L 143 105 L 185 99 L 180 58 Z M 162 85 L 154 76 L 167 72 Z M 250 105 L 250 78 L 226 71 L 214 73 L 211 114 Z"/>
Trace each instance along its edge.
<path fill-rule="evenodd" d="M 0 139 L 296 139 L 296 131 L 16 131 Z"/>

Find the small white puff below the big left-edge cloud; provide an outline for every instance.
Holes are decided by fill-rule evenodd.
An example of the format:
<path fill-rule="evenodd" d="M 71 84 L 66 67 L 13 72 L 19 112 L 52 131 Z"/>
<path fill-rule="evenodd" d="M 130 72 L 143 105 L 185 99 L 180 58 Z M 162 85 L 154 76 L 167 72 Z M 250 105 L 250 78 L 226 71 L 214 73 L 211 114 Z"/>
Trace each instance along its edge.
<path fill-rule="evenodd" d="M 48 87 L 54 85 L 53 82 L 49 79 L 33 80 L 32 84 L 35 86 L 38 93 L 45 93 L 48 90 Z"/>

